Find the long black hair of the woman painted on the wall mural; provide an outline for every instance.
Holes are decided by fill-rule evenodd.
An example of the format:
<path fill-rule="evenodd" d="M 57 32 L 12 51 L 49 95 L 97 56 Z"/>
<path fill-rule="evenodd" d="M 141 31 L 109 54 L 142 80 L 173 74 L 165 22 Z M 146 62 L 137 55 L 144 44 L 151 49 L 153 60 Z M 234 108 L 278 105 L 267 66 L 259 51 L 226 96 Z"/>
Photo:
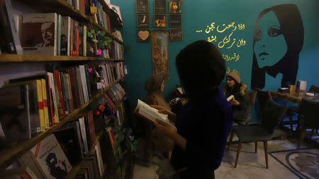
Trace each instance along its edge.
<path fill-rule="evenodd" d="M 260 18 L 264 14 L 273 11 L 280 23 L 281 32 L 284 35 L 288 50 L 284 57 L 272 67 L 259 68 L 257 58 L 253 52 L 252 59 L 252 81 L 251 88 L 264 88 L 265 73 L 275 77 L 278 73 L 283 74 L 281 87 L 286 87 L 296 83 L 298 72 L 299 52 L 303 47 L 303 21 L 298 7 L 294 4 L 281 4 L 272 6 L 262 11 L 254 25 L 254 43 L 257 41 L 256 29 Z M 253 47 L 254 47 L 253 43 Z"/>

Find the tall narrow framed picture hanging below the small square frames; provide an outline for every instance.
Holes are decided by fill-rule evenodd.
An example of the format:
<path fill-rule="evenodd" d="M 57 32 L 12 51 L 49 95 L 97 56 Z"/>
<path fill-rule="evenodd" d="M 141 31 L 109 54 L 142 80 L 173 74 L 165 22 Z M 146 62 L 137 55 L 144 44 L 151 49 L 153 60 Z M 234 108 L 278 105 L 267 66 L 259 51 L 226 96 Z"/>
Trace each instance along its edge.
<path fill-rule="evenodd" d="M 152 71 L 159 74 L 169 71 L 169 32 L 152 30 Z"/>

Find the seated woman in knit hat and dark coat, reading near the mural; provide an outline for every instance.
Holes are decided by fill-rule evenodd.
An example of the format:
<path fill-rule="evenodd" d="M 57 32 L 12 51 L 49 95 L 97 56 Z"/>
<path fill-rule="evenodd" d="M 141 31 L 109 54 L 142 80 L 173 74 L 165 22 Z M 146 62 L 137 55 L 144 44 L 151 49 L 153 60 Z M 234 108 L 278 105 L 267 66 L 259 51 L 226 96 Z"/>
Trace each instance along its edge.
<path fill-rule="evenodd" d="M 249 115 L 249 96 L 246 92 L 247 84 L 240 82 L 240 73 L 233 72 L 226 76 L 227 86 L 223 88 L 225 96 L 228 98 L 234 96 L 233 100 L 230 100 L 230 105 L 234 112 L 234 121 L 238 124 L 243 124 Z"/>

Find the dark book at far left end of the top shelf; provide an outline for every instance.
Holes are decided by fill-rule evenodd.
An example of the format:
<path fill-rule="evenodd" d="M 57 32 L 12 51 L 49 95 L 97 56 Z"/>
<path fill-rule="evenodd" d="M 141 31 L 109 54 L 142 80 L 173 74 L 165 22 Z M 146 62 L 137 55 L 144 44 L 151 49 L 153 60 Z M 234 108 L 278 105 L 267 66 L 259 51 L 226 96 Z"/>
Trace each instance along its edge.
<path fill-rule="evenodd" d="M 22 54 L 11 0 L 0 1 L 0 54 Z"/>

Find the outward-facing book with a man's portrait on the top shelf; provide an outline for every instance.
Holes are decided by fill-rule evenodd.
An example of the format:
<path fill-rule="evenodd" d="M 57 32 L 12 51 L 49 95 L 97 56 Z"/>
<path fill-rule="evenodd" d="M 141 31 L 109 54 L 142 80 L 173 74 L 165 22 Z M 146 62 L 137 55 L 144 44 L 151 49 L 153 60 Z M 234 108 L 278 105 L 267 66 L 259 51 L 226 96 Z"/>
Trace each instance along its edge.
<path fill-rule="evenodd" d="M 57 13 L 23 14 L 23 54 L 57 55 Z"/>

